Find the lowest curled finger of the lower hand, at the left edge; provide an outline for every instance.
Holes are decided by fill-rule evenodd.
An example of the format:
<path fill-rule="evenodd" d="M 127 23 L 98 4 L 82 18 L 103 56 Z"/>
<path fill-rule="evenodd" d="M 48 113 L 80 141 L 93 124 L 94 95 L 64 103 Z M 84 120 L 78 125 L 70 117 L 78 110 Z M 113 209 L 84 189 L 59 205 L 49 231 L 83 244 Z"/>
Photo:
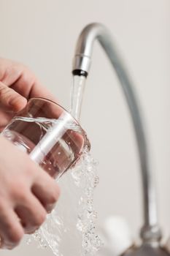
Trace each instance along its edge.
<path fill-rule="evenodd" d="M 20 243 L 23 238 L 23 227 L 18 217 L 9 208 L 1 208 L 0 211 L 1 248 L 12 249 Z"/>

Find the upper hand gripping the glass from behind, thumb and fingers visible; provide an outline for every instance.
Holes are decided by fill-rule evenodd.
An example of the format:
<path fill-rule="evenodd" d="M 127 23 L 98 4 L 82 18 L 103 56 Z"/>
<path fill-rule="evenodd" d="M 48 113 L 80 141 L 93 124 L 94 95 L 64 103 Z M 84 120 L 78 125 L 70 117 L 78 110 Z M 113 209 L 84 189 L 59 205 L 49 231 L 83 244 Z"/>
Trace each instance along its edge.
<path fill-rule="evenodd" d="M 26 66 L 0 58 L 0 131 L 31 97 L 56 101 Z"/>

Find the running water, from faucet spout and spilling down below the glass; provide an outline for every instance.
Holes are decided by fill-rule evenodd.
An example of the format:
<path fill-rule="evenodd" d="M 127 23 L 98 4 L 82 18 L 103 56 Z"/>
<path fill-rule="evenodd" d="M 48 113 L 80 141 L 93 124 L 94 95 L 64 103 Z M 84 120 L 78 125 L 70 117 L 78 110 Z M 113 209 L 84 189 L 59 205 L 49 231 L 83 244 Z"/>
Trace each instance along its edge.
<path fill-rule="evenodd" d="M 80 119 L 85 77 L 74 76 L 71 93 L 72 116 Z M 93 256 L 102 245 L 96 233 L 97 213 L 93 193 L 98 184 L 97 162 L 85 150 L 80 161 L 68 170 L 58 184 L 61 197 L 42 227 L 34 233 L 39 246 L 47 245 L 56 256 Z M 31 239 L 28 239 L 28 244 Z"/>

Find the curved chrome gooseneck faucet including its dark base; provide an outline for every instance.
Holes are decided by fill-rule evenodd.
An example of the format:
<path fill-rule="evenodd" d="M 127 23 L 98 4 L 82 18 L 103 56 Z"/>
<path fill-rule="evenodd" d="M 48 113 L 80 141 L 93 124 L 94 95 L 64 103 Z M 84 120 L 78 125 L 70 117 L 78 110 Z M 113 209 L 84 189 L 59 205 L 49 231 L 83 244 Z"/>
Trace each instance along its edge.
<path fill-rule="evenodd" d="M 90 62 L 95 40 L 101 44 L 112 67 L 115 69 L 117 78 L 122 86 L 131 118 L 134 124 L 134 132 L 139 151 L 139 160 L 142 176 L 143 193 L 143 218 L 144 225 L 141 228 L 140 236 L 142 238 L 141 246 L 134 246 L 124 252 L 123 255 L 154 256 L 169 255 L 166 249 L 161 247 L 161 230 L 158 225 L 158 209 L 156 201 L 156 192 L 152 170 L 150 165 L 150 156 L 147 147 L 144 122 L 139 106 L 139 100 L 136 97 L 133 83 L 131 82 L 124 63 L 117 52 L 112 37 L 107 28 L 100 23 L 91 23 L 82 30 L 77 40 L 77 46 L 74 55 L 73 75 L 82 75 L 87 77 L 90 70 Z"/>

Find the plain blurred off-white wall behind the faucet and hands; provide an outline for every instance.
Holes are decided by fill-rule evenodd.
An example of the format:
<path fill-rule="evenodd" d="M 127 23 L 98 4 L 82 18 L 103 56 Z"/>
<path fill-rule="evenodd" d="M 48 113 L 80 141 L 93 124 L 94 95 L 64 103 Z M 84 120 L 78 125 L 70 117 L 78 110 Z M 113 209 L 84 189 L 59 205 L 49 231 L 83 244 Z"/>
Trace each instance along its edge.
<path fill-rule="evenodd" d="M 170 234 L 170 2 L 169 0 L 1 0 L 0 56 L 27 64 L 61 105 L 69 106 L 72 57 L 80 30 L 104 23 L 128 64 L 147 122 L 163 233 Z M 139 162 L 128 110 L 99 46 L 93 53 L 82 110 L 93 156 L 99 160 L 98 222 L 126 217 L 134 234 L 142 225 Z M 1 255 L 52 255 L 21 244 Z M 69 254 L 68 254 L 69 255 Z M 64 255 L 67 256 L 67 255 Z"/>

